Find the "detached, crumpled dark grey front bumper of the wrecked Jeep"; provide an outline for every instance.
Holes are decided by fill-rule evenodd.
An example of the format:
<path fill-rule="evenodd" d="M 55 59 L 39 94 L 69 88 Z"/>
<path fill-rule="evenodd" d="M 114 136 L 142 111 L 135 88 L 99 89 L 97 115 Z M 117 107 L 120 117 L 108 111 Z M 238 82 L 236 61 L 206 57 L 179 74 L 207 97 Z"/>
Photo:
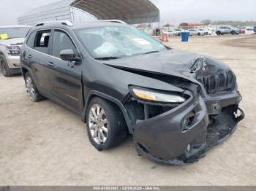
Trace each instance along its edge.
<path fill-rule="evenodd" d="M 140 122 L 135 127 L 134 143 L 139 155 L 157 163 L 184 165 L 195 163 L 200 157 L 230 136 L 244 112 L 238 109 L 239 93 L 223 96 L 222 100 L 191 98 L 170 112 Z M 218 104 L 218 107 L 216 107 Z M 212 109 L 214 110 L 214 114 Z M 182 131 L 182 121 L 190 112 L 195 112 L 187 131 Z M 236 112 L 240 112 L 236 116 Z"/>

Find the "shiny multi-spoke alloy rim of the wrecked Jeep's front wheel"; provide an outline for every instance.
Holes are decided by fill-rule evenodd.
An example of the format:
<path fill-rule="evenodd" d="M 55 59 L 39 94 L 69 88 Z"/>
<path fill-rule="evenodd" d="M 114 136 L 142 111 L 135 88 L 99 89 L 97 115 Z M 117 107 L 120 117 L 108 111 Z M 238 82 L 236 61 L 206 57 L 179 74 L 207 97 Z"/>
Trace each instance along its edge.
<path fill-rule="evenodd" d="M 91 107 L 88 124 L 92 139 L 97 144 L 104 144 L 108 139 L 108 119 L 99 104 L 94 104 Z"/>

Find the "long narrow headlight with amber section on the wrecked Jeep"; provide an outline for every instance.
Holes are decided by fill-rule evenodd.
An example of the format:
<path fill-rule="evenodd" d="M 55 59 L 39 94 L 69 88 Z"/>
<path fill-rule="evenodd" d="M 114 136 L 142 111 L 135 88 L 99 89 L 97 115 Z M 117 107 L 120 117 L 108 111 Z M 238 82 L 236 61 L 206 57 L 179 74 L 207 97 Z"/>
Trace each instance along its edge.
<path fill-rule="evenodd" d="M 132 88 L 132 93 L 136 97 L 146 101 L 159 101 L 165 103 L 184 103 L 184 101 L 186 101 L 186 98 L 174 93 L 158 93 L 153 90 L 144 90 L 137 87 Z"/>

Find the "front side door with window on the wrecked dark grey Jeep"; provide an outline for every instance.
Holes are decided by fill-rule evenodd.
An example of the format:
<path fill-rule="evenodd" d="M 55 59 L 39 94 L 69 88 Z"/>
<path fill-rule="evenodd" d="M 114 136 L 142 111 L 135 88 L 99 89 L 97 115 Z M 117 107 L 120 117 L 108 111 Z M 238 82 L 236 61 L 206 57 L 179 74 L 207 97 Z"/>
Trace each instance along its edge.
<path fill-rule="evenodd" d="M 60 57 L 61 50 L 70 49 L 80 57 L 78 48 L 69 34 L 63 30 L 53 31 L 51 46 L 50 63 L 53 64 L 50 70 L 51 92 L 56 101 L 80 113 L 83 109 L 82 64 L 80 61 L 76 63 L 63 61 Z"/>

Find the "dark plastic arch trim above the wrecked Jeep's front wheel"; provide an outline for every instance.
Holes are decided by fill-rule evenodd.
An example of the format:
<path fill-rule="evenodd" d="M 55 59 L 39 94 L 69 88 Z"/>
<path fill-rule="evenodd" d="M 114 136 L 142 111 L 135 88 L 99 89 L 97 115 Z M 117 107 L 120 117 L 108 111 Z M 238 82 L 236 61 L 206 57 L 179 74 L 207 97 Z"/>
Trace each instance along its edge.
<path fill-rule="evenodd" d="M 87 95 L 87 98 L 86 98 L 86 101 L 85 101 L 85 106 L 84 106 L 84 109 L 83 109 L 83 114 L 82 114 L 83 122 L 86 122 L 86 110 L 87 110 L 87 107 L 90 104 L 91 99 L 94 98 L 94 97 L 103 98 L 103 99 L 105 99 L 107 101 L 112 102 L 116 106 L 118 106 L 118 108 L 120 109 L 120 111 L 122 112 L 122 114 L 124 116 L 125 122 L 127 123 L 127 127 L 128 127 L 128 130 L 129 130 L 129 133 L 131 133 L 131 134 L 133 133 L 134 130 L 132 128 L 132 123 L 129 120 L 129 116 L 128 116 L 127 110 L 124 108 L 124 106 L 121 103 L 121 101 L 118 101 L 116 98 L 113 98 L 110 95 L 107 95 L 105 93 L 99 92 L 97 90 L 91 90 L 89 92 L 89 94 Z"/>

